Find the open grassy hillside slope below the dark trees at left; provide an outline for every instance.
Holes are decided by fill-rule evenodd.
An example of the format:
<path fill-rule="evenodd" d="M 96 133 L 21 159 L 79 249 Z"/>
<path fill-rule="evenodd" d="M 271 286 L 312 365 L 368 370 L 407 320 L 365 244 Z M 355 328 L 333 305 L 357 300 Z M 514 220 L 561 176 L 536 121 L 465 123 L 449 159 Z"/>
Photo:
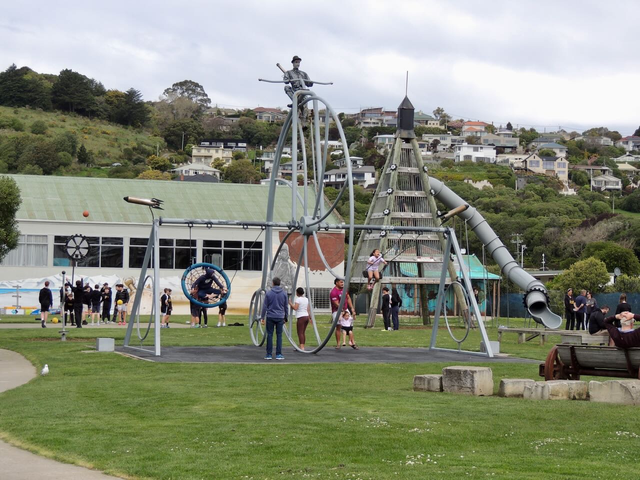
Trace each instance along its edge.
<path fill-rule="evenodd" d="M 45 132 L 31 132 L 34 124 L 40 127 L 44 124 Z M 36 128 L 36 131 L 39 130 Z M 64 134 L 67 138 L 75 138 L 76 145 L 73 152 L 69 152 L 72 162 L 56 168 L 52 172 L 55 175 L 114 176 L 108 175 L 108 169 L 104 168 L 110 167 L 113 163 L 122 163 L 124 167 L 141 170 L 149 155 L 166 149 L 164 139 L 154 136 L 150 130 L 135 129 L 73 113 L 0 106 L 0 166 L 4 170 L 0 173 L 16 170 L 12 168 L 12 161 L 19 160 L 20 151 L 17 151 L 17 144 L 24 150 L 25 145 L 38 141 L 48 140 L 56 143 Z M 77 148 L 81 145 L 92 152 L 92 161 L 88 165 L 77 162 Z M 60 148 L 56 149 L 57 153 L 60 151 Z M 12 158 L 12 155 L 15 158 Z M 140 167 L 136 168 L 138 165 Z M 131 168 L 126 177 L 131 176 Z"/>

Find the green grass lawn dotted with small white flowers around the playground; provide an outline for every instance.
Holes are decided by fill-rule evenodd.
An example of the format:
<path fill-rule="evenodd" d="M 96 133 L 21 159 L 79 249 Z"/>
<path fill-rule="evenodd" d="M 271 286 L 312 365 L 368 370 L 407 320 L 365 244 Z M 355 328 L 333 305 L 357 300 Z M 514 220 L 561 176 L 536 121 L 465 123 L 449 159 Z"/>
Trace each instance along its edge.
<path fill-rule="evenodd" d="M 246 330 L 174 328 L 163 330 L 163 345 L 247 344 Z M 156 364 L 83 352 L 105 332 L 74 331 L 63 343 L 51 329 L 0 331 L 1 348 L 51 369 L 0 394 L 1 438 L 136 479 L 613 479 L 639 471 L 634 407 L 412 391 L 413 375 L 445 364 Z M 452 344 L 446 333 L 438 344 Z M 426 346 L 429 334 L 357 328 L 356 340 Z M 124 330 L 109 336 L 121 343 Z M 470 337 L 477 348 L 479 333 Z M 502 341 L 503 351 L 539 360 L 549 348 L 518 345 L 516 335 Z M 537 365 L 491 367 L 496 388 L 500 378 L 538 379 Z"/>

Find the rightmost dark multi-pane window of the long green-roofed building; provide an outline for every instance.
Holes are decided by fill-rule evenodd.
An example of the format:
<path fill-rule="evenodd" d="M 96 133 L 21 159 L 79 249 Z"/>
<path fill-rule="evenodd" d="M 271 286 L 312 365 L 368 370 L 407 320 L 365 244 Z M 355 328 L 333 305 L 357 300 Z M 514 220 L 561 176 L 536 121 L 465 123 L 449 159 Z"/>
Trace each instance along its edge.
<path fill-rule="evenodd" d="M 240 240 L 205 240 L 202 261 L 220 266 L 223 270 L 261 271 L 262 242 Z"/>

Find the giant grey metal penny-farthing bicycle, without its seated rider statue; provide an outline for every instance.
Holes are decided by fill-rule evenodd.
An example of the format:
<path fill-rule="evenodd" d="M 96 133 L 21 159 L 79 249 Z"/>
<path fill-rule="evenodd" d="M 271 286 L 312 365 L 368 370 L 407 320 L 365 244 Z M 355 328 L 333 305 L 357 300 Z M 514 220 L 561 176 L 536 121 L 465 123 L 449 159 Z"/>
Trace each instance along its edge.
<path fill-rule="evenodd" d="M 269 83 L 285 83 L 285 81 L 273 81 L 263 80 Z M 300 82 L 302 83 L 302 82 Z M 316 84 L 330 84 L 328 82 L 317 82 Z M 324 109 L 324 120 L 320 119 L 319 112 Z M 346 160 L 347 175 L 344 185 L 339 191 L 339 194 L 332 205 L 328 208 L 324 204 L 324 170 L 328 159 L 328 144 L 329 144 L 329 125 L 330 122 L 335 122 L 340 135 L 340 141 L 342 142 L 342 150 L 344 151 L 344 157 Z M 324 127 L 324 134 L 321 134 L 321 126 Z M 291 133 L 291 164 L 292 182 L 278 178 L 278 169 L 280 167 L 280 161 L 282 159 L 282 152 Z M 300 149 L 300 152 L 298 151 Z M 307 149 L 310 152 L 311 158 L 307 157 Z M 301 171 L 298 170 L 299 157 L 301 156 Z M 310 160 L 310 162 L 308 161 Z M 308 172 L 307 165 L 310 164 L 312 168 L 312 177 L 316 180 L 312 183 L 308 180 L 311 178 Z M 298 175 L 302 175 L 304 181 L 303 186 L 298 188 L 296 179 Z M 273 252 L 273 226 L 269 225 L 273 222 L 273 205 L 275 200 L 276 188 L 278 184 L 287 184 L 291 188 L 291 222 L 289 223 L 289 231 L 285 234 L 282 241 L 276 249 L 275 255 Z M 340 125 L 340 120 L 336 115 L 333 108 L 326 102 L 326 100 L 317 96 L 316 93 L 308 90 L 305 85 L 301 85 L 301 89 L 294 93 L 292 99 L 292 108 L 289 111 L 289 115 L 284 122 L 282 131 L 280 132 L 280 138 L 278 139 L 278 146 L 276 147 L 275 160 L 273 162 L 273 168 L 271 170 L 271 181 L 269 182 L 269 197 L 267 204 L 267 218 L 266 218 L 266 232 L 264 243 L 264 256 L 263 256 L 263 269 L 262 269 L 262 283 L 260 288 L 253 293 L 251 304 L 249 307 L 249 330 L 253 344 L 259 346 L 264 342 L 264 327 L 260 323 L 260 314 L 262 311 L 262 305 L 264 303 L 264 294 L 268 287 L 267 280 L 269 272 L 273 271 L 278 259 L 278 254 L 282 249 L 282 246 L 287 243 L 287 239 L 294 233 L 298 232 L 303 238 L 302 248 L 298 257 L 296 266 L 296 274 L 292 283 L 292 291 L 295 291 L 298 285 L 304 285 L 305 292 L 310 292 L 310 279 L 309 279 L 309 244 L 311 243 L 315 247 L 315 252 L 319 259 L 323 262 L 326 271 L 331 273 L 335 278 L 345 280 L 344 273 L 337 272 L 332 269 L 329 262 L 324 255 L 321 242 L 318 238 L 320 230 L 328 230 L 328 224 L 325 222 L 326 218 L 335 212 L 336 207 L 342 196 L 348 195 L 349 205 L 349 226 L 346 228 L 346 245 L 347 245 L 347 260 L 344 271 L 351 271 L 351 257 L 353 255 L 353 233 L 354 233 L 354 218 L 353 218 L 353 179 L 351 177 L 351 160 L 349 159 L 349 147 Z M 300 277 L 304 280 L 300 281 Z M 300 283 L 299 283 L 300 282 Z M 348 285 L 348 280 L 345 281 Z M 345 286 L 347 288 L 347 286 Z M 294 300 L 292 300 L 294 301 Z M 340 299 L 340 305 L 338 311 L 344 308 L 345 299 L 344 296 Z M 313 318 L 313 305 L 309 302 L 309 313 Z M 336 316 L 333 319 L 333 323 L 328 333 L 321 339 L 317 330 L 316 322 L 312 322 L 312 328 L 316 337 L 317 346 L 315 348 L 302 350 L 298 347 L 296 340 L 293 338 L 293 318 L 289 315 L 289 323 L 285 324 L 285 335 L 291 345 L 302 353 L 317 353 L 320 351 L 326 342 L 328 342 L 335 330 L 338 318 Z"/>

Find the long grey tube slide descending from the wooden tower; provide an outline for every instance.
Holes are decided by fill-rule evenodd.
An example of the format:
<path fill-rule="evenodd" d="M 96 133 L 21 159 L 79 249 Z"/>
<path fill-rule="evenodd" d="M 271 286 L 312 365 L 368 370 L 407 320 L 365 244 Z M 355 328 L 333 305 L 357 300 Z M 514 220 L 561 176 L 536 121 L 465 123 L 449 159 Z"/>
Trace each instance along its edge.
<path fill-rule="evenodd" d="M 434 192 L 433 195 L 445 204 L 448 209 L 467 204 L 465 200 L 447 188 L 440 180 L 429 177 L 429 182 Z M 500 238 L 474 207 L 469 206 L 467 210 L 461 212 L 458 216 L 467 220 L 467 225 L 476 233 L 507 278 L 525 291 L 524 305 L 529 310 L 534 321 L 543 324 L 547 328 L 558 328 L 562 323 L 562 318 L 549 309 L 545 285 L 520 268 L 518 262 L 511 257 L 509 250 L 500 241 Z"/>

